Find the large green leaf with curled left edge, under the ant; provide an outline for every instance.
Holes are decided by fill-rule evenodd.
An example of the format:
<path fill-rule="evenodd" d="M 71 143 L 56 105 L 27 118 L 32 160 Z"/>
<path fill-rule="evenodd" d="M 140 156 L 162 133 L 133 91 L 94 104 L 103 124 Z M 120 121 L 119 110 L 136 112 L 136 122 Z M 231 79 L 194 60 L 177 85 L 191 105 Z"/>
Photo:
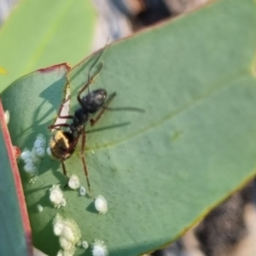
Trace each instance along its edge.
<path fill-rule="evenodd" d="M 148 113 L 106 111 L 95 128 L 86 127 L 90 183 L 93 195 L 108 201 L 105 215 L 96 214 L 92 199 L 69 189 L 66 207 L 50 206 L 51 185 L 67 183 L 58 161 L 45 157 L 36 183 L 24 177 L 38 248 L 57 252 L 56 212 L 79 224 L 83 240 L 105 241 L 110 255 L 163 247 L 255 175 L 255 10 L 253 0 L 218 1 L 108 46 L 92 69 L 91 76 L 102 61 L 90 90 L 116 91 L 112 108 Z M 72 111 L 92 63 L 85 60 L 68 73 Z M 3 93 L 9 128 L 21 148 L 31 148 L 38 132 L 50 137 L 47 126 L 66 83 L 53 74 L 52 80 L 45 73 L 33 80 L 32 73 Z M 42 97 L 44 90 L 49 93 Z M 93 129 L 102 131 L 89 133 Z M 66 161 L 67 172 L 86 186 L 79 150 Z M 35 210 L 38 201 L 43 214 Z"/>

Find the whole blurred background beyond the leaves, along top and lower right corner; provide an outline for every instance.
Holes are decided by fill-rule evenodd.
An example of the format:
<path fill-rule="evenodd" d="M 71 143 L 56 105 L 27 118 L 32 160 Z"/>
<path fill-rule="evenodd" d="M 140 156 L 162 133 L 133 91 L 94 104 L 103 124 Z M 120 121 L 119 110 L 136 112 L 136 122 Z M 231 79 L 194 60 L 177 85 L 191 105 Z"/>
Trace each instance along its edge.
<path fill-rule="evenodd" d="M 207 4 L 207 0 L 91 0 L 97 10 L 90 52 L 110 41 L 125 38 L 158 22 L 172 19 Z M 0 26 L 16 0 L 0 1 Z M 256 255 L 255 183 L 211 212 L 171 246 L 154 256 L 254 256 Z"/>

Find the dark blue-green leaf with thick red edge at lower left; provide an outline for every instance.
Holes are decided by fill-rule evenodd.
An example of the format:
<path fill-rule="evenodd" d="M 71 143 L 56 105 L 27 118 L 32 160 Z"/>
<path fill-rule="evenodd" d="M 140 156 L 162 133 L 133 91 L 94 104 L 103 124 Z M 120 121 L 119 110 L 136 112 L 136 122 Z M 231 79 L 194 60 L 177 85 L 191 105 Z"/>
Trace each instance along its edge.
<path fill-rule="evenodd" d="M 0 101 L 0 254 L 32 255 L 32 234 L 14 148 Z"/>

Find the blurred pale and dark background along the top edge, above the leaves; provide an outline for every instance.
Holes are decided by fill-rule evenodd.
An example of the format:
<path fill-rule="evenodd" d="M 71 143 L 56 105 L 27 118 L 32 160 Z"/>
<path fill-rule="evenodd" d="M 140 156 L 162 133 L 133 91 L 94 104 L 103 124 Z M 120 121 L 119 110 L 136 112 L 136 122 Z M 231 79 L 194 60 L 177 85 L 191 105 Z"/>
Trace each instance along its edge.
<path fill-rule="evenodd" d="M 208 0 L 91 0 L 94 3 L 98 20 L 92 51 L 102 48 L 108 38 L 111 41 L 125 38 L 144 27 L 153 26 L 161 20 L 174 18 Z M 0 25 L 15 8 L 17 0 L 0 1 Z"/>

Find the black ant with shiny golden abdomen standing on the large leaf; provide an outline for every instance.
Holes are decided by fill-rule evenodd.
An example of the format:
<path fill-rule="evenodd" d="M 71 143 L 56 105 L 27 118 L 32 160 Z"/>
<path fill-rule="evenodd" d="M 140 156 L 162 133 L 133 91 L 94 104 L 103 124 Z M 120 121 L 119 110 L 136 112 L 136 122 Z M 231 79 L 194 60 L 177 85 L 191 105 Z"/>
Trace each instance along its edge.
<path fill-rule="evenodd" d="M 79 90 L 79 94 L 77 96 L 80 108 L 78 108 L 73 115 L 61 116 L 61 113 L 58 113 L 58 118 L 60 119 L 72 119 L 71 124 L 57 124 L 57 125 L 49 125 L 49 129 L 56 129 L 55 135 L 51 137 L 49 141 L 49 148 L 51 154 L 56 159 L 61 160 L 62 172 L 67 177 L 67 169 L 64 164 L 64 161 L 70 158 L 79 143 L 80 137 L 82 137 L 81 143 L 81 151 L 80 156 L 83 162 L 84 167 L 84 174 L 87 181 L 87 186 L 91 194 L 90 189 L 90 181 L 89 181 L 89 174 L 87 170 L 87 166 L 84 159 L 84 148 L 86 142 L 86 132 L 85 132 L 85 125 L 90 121 L 90 125 L 93 126 L 96 122 L 102 117 L 102 114 L 106 110 L 126 110 L 126 111 L 137 111 L 137 112 L 145 112 L 145 110 L 141 108 L 108 108 L 110 102 L 113 101 L 114 96 L 116 96 L 116 92 L 113 92 L 110 96 L 108 96 L 107 90 L 105 89 L 98 89 L 90 91 L 90 84 L 92 83 L 93 79 L 96 77 L 98 73 L 102 70 L 102 63 L 100 64 L 100 68 L 98 71 L 90 77 L 90 72 L 93 67 L 96 66 L 97 61 L 102 56 L 104 50 L 102 49 L 102 53 L 96 58 L 96 61 L 90 67 L 88 73 L 87 83 L 84 84 L 84 87 Z M 84 90 L 88 90 L 88 94 L 82 96 Z M 107 98 L 108 97 L 108 98 Z M 62 103 L 63 105 L 70 99 L 70 96 L 67 98 L 65 102 Z M 97 113 L 97 114 L 96 114 Z M 96 117 L 93 118 L 93 115 L 96 114 Z M 67 131 L 61 130 L 61 128 L 67 128 Z"/>

